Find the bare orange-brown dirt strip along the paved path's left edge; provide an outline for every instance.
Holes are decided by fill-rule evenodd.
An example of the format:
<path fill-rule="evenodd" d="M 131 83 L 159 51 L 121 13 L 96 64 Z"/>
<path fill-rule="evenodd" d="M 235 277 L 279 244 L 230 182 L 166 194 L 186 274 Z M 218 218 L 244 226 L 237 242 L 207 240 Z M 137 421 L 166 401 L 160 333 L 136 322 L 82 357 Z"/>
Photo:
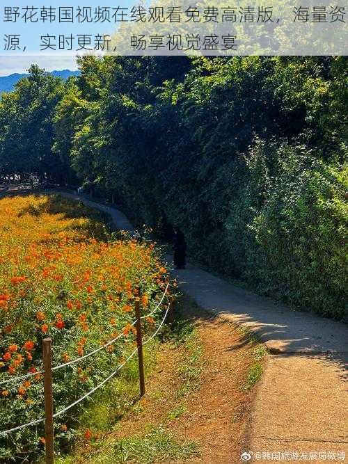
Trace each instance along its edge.
<path fill-rule="evenodd" d="M 246 378 L 255 362 L 255 343 L 220 317 L 200 313 L 196 326 L 205 360 L 201 385 L 173 429 L 201 444 L 200 458 L 190 463 L 238 463 L 253 400 Z"/>

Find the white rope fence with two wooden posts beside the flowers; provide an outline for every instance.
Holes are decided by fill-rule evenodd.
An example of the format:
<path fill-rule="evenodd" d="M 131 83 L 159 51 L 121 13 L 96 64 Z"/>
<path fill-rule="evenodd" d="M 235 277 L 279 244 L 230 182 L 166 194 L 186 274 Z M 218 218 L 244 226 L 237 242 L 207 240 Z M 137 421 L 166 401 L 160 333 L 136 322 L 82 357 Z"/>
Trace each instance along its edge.
<path fill-rule="evenodd" d="M 159 333 L 159 330 L 161 330 L 161 327 L 163 326 L 164 322 L 166 321 L 168 313 L 171 314 L 171 312 L 173 311 L 172 303 L 171 302 L 168 303 L 168 307 L 166 308 L 166 312 L 164 313 L 164 317 L 161 319 L 161 322 L 159 323 L 159 326 L 155 330 L 155 333 L 153 333 L 148 339 L 146 339 L 145 342 L 142 342 L 142 339 L 141 339 L 141 320 L 152 316 L 152 314 L 155 314 L 155 312 L 159 309 L 159 307 L 161 306 L 161 304 L 164 301 L 164 297 L 167 294 L 168 287 L 169 287 L 169 282 L 167 283 L 166 289 L 164 290 L 164 294 L 162 294 L 161 299 L 160 299 L 159 303 L 156 305 L 155 309 L 152 310 L 149 314 L 145 314 L 144 316 L 140 316 L 139 298 L 136 299 L 136 303 L 135 303 L 136 319 L 131 324 L 132 326 L 136 326 L 136 342 L 137 342 L 136 349 L 134 349 L 134 351 L 132 351 L 132 353 L 126 358 L 126 360 L 123 361 L 120 365 L 118 365 L 118 367 L 116 367 L 116 369 L 111 374 L 109 374 L 109 376 L 104 378 L 104 380 L 102 382 L 100 382 L 98 385 L 93 387 L 92 390 L 90 390 L 89 392 L 84 394 L 81 398 L 77 399 L 76 401 L 74 401 L 70 405 L 66 406 L 65 408 L 63 408 L 61 410 L 58 410 L 54 414 L 53 414 L 53 395 L 52 395 L 52 385 L 53 385 L 53 383 L 52 383 L 52 371 L 56 371 L 57 369 L 61 369 L 63 367 L 66 367 L 66 366 L 72 365 L 72 364 L 74 364 L 76 362 L 79 362 L 81 360 L 84 360 L 84 359 L 88 358 L 89 356 L 92 356 L 95 353 L 98 353 L 99 351 L 102 351 L 107 346 L 110 346 L 111 344 L 115 343 L 118 339 L 120 339 L 122 337 L 125 337 L 125 335 L 122 333 L 122 334 L 118 335 L 118 337 L 116 337 L 116 338 L 110 340 L 109 342 L 107 342 L 106 344 L 104 344 L 103 346 L 100 346 L 100 348 L 97 348 L 97 349 L 95 349 L 93 351 L 90 351 L 90 353 L 87 353 L 86 355 L 81 356 L 80 358 L 76 358 L 76 359 L 74 359 L 72 361 L 65 362 L 64 364 L 57 365 L 55 367 L 51 367 L 51 365 L 50 365 L 51 355 L 52 355 L 52 347 L 51 347 L 52 342 L 51 342 L 51 339 L 44 339 L 43 340 L 43 353 L 44 353 L 43 357 L 44 357 L 45 369 L 42 370 L 42 371 L 36 371 L 36 372 L 30 373 L 30 374 L 26 374 L 24 376 L 18 376 L 18 377 L 15 377 L 15 378 L 10 378 L 10 379 L 8 379 L 8 381 L 1 382 L 0 385 L 3 385 L 4 383 L 19 381 L 19 380 L 22 380 L 24 378 L 29 378 L 31 376 L 37 376 L 38 374 L 45 374 L 45 378 L 44 378 L 44 386 L 45 386 L 45 417 L 33 420 L 32 422 L 29 422 L 27 424 L 22 424 L 20 426 L 13 427 L 13 429 L 0 431 L 0 436 L 1 435 L 8 435 L 8 433 L 12 433 L 12 432 L 24 429 L 26 427 L 29 427 L 29 426 L 32 426 L 32 425 L 35 425 L 35 424 L 40 424 L 40 422 L 45 422 L 46 463 L 47 464 L 54 463 L 54 457 L 53 457 L 53 439 L 54 439 L 53 426 L 49 427 L 49 429 L 52 429 L 52 430 L 47 431 L 47 424 L 49 424 L 50 422 L 53 424 L 53 419 L 55 417 L 58 417 L 59 415 L 62 415 L 64 413 L 66 413 L 68 410 L 70 410 L 74 406 L 77 406 L 77 404 L 81 403 L 81 401 L 84 401 L 84 399 L 89 397 L 91 394 L 93 394 L 94 392 L 99 390 L 103 385 L 105 385 L 107 382 L 109 382 L 111 380 L 111 378 L 116 376 L 118 371 L 120 371 L 120 369 L 122 369 L 122 367 L 124 367 L 127 364 L 127 362 L 130 359 L 133 358 L 133 356 L 134 356 L 134 354 L 136 352 L 138 352 L 138 358 L 139 358 L 139 381 L 140 381 L 140 391 L 141 391 L 140 396 L 143 396 L 143 394 L 145 393 L 145 383 L 143 381 L 143 378 L 144 378 L 143 346 L 148 344 Z M 171 320 L 173 320 L 173 317 L 171 317 Z M 47 346 L 49 346 L 49 351 L 48 352 L 47 352 Z M 47 366 L 49 366 L 48 369 L 47 369 Z M 47 375 L 47 374 L 49 374 L 49 375 Z"/>

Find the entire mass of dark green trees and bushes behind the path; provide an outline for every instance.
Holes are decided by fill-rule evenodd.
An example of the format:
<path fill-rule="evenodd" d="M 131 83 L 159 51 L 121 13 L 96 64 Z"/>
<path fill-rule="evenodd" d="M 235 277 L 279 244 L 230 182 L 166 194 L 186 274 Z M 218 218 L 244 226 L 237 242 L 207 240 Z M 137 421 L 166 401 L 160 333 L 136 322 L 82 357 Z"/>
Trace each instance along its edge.
<path fill-rule="evenodd" d="M 347 58 L 88 56 L 79 67 L 64 85 L 32 68 L 3 96 L 3 172 L 53 175 L 60 163 L 69 182 L 72 166 L 136 223 L 179 226 L 200 262 L 342 317 Z"/>

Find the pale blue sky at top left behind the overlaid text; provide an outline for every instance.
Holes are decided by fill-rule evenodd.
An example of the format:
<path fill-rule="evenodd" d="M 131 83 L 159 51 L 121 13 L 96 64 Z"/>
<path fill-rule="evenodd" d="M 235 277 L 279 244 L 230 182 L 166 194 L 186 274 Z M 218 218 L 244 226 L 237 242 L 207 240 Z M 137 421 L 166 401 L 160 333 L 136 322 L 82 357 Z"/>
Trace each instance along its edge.
<path fill-rule="evenodd" d="M 62 69 L 76 69 L 76 60 L 73 52 L 64 52 L 61 51 L 49 51 L 50 54 L 45 55 L 40 53 L 40 42 L 42 35 L 76 35 L 76 34 L 103 34 L 103 33 L 113 33 L 115 30 L 115 24 L 110 24 L 108 22 L 104 23 L 94 23 L 94 22 L 85 22 L 79 24 L 75 18 L 74 24 L 71 22 L 59 23 L 56 22 L 42 22 L 40 21 L 40 8 L 45 6 L 46 8 L 52 6 L 56 8 L 56 15 L 58 17 L 58 8 L 59 6 L 69 6 L 74 8 L 74 14 L 77 13 L 78 6 L 91 7 L 94 12 L 96 6 L 110 6 L 111 8 L 116 8 L 120 6 L 122 8 L 129 8 L 134 5 L 134 2 L 131 0 L 119 0 L 117 3 L 113 3 L 111 0 L 102 1 L 99 4 L 92 0 L 68 0 L 66 2 L 57 2 L 47 1 L 47 0 L 3 0 L 1 1 L 2 5 L 0 6 L 0 24 L 1 24 L 1 34 L 0 34 L 0 75 L 7 76 L 8 74 L 13 74 L 14 72 L 26 72 L 28 67 L 32 63 L 44 67 L 47 71 L 52 70 L 62 70 Z M 5 19 L 5 8 L 6 7 L 19 7 L 19 13 L 22 16 L 26 6 L 33 6 L 38 8 L 38 22 L 24 22 L 24 19 L 18 18 L 16 22 L 4 22 Z M 5 40 L 4 35 L 9 34 L 20 34 L 20 40 L 22 47 L 25 45 L 26 51 L 5 51 Z M 57 40 L 58 42 L 58 40 Z M 76 51 L 74 52 L 76 54 Z"/>

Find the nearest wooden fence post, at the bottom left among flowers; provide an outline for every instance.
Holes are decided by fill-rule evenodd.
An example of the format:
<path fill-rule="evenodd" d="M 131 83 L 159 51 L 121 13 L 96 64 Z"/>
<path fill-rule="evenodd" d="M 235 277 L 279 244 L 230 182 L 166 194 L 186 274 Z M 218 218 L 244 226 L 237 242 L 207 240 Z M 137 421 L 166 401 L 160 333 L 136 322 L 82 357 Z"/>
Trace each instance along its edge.
<path fill-rule="evenodd" d="M 45 448 L 46 464 L 54 464 L 53 444 L 53 393 L 52 393 L 52 339 L 42 340 L 43 361 L 45 367 Z"/>

